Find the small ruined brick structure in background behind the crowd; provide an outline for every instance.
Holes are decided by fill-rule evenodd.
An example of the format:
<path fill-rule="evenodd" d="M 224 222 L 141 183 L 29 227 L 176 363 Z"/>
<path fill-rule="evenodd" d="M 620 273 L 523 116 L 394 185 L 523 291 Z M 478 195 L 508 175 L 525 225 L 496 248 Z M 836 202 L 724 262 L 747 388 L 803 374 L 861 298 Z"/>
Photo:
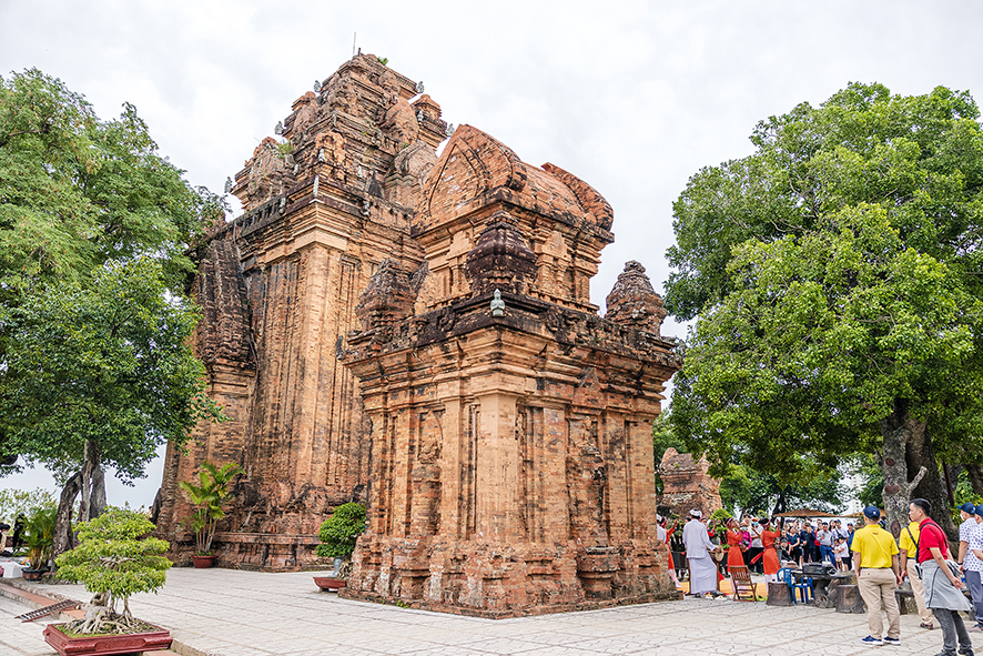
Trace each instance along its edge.
<path fill-rule="evenodd" d="M 667 448 L 659 464 L 659 478 L 662 480 L 660 512 L 676 513 L 685 518 L 696 508 L 709 517 L 713 511 L 722 508 L 720 481 L 711 477 L 707 473 L 709 470 L 707 458 L 695 461 L 692 454 L 678 453 L 671 446 Z"/>

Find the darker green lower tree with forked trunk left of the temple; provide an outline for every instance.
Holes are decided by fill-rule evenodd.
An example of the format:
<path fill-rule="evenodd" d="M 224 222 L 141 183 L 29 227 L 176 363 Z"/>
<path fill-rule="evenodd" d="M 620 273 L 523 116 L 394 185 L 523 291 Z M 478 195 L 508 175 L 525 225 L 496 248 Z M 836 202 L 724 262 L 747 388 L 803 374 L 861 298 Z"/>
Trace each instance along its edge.
<path fill-rule="evenodd" d="M 160 445 L 181 445 L 200 420 L 221 417 L 189 346 L 196 320 L 191 302 L 166 293 L 161 263 L 145 258 L 105 264 L 91 285 L 45 285 L 0 316 L 7 442 L 67 477 L 55 554 L 71 546 L 75 496 L 82 521 L 104 506 L 103 466 L 136 478 Z"/>

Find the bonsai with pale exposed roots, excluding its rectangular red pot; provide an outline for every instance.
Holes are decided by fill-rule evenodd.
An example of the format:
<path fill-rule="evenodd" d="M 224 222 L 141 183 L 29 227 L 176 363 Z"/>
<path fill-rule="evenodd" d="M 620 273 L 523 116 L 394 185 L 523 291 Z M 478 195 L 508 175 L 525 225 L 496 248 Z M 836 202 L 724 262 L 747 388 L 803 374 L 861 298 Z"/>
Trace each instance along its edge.
<path fill-rule="evenodd" d="M 83 619 L 61 626 L 69 635 L 124 634 L 146 630 L 130 614 L 130 595 L 163 587 L 171 562 L 162 556 L 163 539 L 150 537 L 153 523 L 129 508 L 110 507 L 94 519 L 79 524 L 79 546 L 55 558 L 58 575 L 85 584 L 94 593 Z M 122 614 L 116 602 L 123 602 Z"/>

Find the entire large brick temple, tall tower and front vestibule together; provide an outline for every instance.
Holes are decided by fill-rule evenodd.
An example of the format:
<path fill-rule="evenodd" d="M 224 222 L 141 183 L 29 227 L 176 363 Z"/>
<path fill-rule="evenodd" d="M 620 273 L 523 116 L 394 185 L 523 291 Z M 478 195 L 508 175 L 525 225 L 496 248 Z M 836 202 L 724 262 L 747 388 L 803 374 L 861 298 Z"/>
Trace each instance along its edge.
<path fill-rule="evenodd" d="M 438 159 L 449 130 L 417 91 L 356 57 L 236 175 L 246 213 L 195 280 L 232 421 L 169 454 L 162 525 L 180 535 L 176 481 L 233 461 L 226 565 L 312 563 L 355 499 L 351 597 L 501 617 L 673 594 L 651 421 L 681 357 L 661 299 L 629 262 L 600 317 L 607 201 L 469 125 Z"/>

